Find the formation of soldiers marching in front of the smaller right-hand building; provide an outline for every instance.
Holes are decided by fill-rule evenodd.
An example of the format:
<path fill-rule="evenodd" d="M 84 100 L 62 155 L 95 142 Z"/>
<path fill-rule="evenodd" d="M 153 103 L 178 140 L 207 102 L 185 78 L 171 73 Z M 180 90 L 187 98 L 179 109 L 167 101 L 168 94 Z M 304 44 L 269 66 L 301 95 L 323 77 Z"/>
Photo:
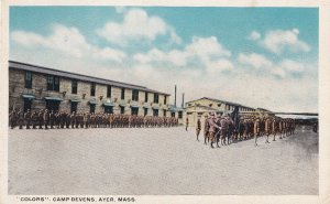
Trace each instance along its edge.
<path fill-rule="evenodd" d="M 215 114 L 205 116 L 204 122 L 204 137 L 205 144 L 210 142 L 210 147 L 213 148 L 213 143 L 219 146 L 227 146 L 232 142 L 238 142 L 248 139 L 255 139 L 255 146 L 257 146 L 257 138 L 266 136 L 265 143 L 270 143 L 268 137 L 273 135 L 273 141 L 276 135 L 279 135 L 279 139 L 295 133 L 295 120 L 292 118 L 275 118 L 275 117 L 241 117 L 235 127 L 234 121 L 228 116 L 216 117 Z M 196 124 L 197 140 L 201 130 L 200 118 Z"/>

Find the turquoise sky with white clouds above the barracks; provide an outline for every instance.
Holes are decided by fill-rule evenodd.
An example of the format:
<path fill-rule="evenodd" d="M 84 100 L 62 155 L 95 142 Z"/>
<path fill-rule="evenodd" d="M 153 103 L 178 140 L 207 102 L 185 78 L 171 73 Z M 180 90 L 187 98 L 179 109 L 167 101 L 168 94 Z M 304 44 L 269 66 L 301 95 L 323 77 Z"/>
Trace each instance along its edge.
<path fill-rule="evenodd" d="M 274 111 L 318 111 L 318 9 L 11 7 L 10 60 Z"/>

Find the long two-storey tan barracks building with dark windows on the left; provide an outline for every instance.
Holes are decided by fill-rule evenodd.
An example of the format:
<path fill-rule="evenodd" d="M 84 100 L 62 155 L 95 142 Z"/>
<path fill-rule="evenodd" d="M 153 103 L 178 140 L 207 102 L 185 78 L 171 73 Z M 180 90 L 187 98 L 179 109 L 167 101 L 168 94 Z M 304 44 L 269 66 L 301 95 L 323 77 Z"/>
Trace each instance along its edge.
<path fill-rule="evenodd" d="M 169 94 L 144 86 L 9 61 L 9 108 L 183 118 Z"/>

